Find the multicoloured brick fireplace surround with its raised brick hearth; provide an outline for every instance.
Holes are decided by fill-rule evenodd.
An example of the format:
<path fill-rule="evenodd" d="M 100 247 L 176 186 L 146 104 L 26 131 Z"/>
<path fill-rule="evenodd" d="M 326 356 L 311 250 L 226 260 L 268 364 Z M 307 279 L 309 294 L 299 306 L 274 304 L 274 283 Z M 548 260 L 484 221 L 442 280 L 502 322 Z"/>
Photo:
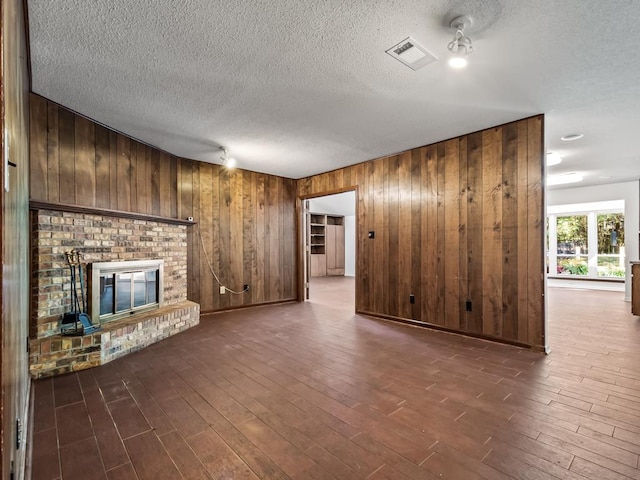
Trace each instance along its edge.
<path fill-rule="evenodd" d="M 84 336 L 60 335 L 71 310 L 65 252 L 84 263 L 162 259 L 163 306 L 108 322 Z M 47 377 L 102 365 L 199 323 L 200 306 L 187 300 L 187 226 L 158 219 L 32 209 L 30 371 Z M 86 283 L 86 268 L 83 269 Z M 97 321 L 94 319 L 93 323 Z"/>

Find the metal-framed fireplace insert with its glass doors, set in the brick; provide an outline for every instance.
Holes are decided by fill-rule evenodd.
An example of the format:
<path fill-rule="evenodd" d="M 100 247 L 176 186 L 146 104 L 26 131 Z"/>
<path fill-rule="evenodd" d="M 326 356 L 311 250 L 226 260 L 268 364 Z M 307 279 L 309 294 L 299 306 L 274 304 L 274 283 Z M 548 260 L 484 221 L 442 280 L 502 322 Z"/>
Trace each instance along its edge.
<path fill-rule="evenodd" d="M 92 318 L 106 322 L 160 306 L 162 260 L 91 265 Z M 97 287 L 97 288 L 96 288 Z"/>

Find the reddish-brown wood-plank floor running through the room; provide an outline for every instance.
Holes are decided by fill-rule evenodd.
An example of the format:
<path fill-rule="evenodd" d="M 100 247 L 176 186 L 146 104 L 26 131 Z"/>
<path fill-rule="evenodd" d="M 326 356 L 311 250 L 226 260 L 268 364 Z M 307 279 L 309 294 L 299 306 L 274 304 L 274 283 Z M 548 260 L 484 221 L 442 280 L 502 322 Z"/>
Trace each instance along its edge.
<path fill-rule="evenodd" d="M 550 289 L 545 356 L 357 316 L 343 292 L 314 280 L 310 302 L 35 382 L 32 478 L 640 478 L 622 294 Z"/>

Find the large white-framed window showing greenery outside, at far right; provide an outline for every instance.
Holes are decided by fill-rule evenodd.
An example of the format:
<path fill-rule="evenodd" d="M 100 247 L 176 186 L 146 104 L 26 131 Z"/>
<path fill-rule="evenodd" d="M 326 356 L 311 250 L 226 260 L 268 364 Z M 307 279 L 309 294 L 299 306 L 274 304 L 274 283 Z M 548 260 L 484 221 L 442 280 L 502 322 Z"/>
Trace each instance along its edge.
<path fill-rule="evenodd" d="M 550 275 L 624 278 L 624 213 L 591 210 L 547 217 Z"/>

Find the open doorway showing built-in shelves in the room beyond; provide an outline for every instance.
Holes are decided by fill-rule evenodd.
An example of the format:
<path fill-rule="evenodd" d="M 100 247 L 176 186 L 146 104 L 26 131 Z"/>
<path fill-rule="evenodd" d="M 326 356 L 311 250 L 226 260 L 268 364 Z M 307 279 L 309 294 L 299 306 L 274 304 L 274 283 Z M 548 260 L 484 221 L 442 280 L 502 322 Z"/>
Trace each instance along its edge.
<path fill-rule="evenodd" d="M 356 192 L 302 200 L 304 300 L 355 311 Z"/>

